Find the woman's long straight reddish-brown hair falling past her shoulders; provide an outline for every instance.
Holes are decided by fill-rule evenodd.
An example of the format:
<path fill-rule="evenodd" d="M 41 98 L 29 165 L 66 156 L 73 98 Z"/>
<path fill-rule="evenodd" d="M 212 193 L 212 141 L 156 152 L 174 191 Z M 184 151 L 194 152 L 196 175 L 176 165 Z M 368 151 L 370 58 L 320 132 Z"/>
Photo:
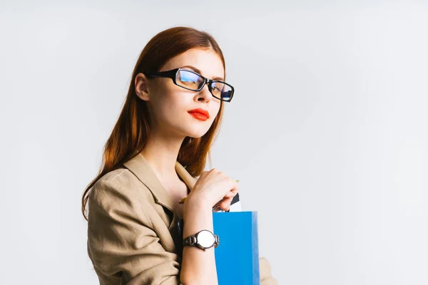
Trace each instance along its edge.
<path fill-rule="evenodd" d="M 223 53 L 213 36 L 207 32 L 179 26 L 161 31 L 148 41 L 133 69 L 131 84 L 121 114 L 104 145 L 103 160 L 98 175 L 86 186 L 83 192 L 81 211 L 86 220 L 88 220 L 86 204 L 91 187 L 107 172 L 121 167 L 124 162 L 138 155 L 150 137 L 148 104 L 136 95 L 136 75 L 159 71 L 170 58 L 178 56 L 190 48 L 215 51 L 223 62 L 225 70 Z M 180 146 L 177 160 L 193 177 L 199 176 L 205 169 L 207 155 L 211 163 L 210 147 L 218 135 L 222 118 L 223 101 L 220 101 L 220 110 L 208 132 L 201 138 L 186 137 Z"/>

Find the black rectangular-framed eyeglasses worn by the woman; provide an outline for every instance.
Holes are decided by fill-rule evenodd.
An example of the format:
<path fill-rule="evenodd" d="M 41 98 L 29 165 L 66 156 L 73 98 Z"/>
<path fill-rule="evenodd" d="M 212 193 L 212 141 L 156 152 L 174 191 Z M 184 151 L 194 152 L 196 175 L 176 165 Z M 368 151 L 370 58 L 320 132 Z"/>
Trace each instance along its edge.
<path fill-rule="evenodd" d="M 208 90 L 210 90 L 210 93 L 215 98 L 225 102 L 230 102 L 230 100 L 232 100 L 233 92 L 235 90 L 233 86 L 228 83 L 205 78 L 194 71 L 189 71 L 184 68 L 175 68 L 170 71 L 144 74 L 151 77 L 171 78 L 176 86 L 192 91 L 200 91 L 203 86 L 208 83 Z"/>

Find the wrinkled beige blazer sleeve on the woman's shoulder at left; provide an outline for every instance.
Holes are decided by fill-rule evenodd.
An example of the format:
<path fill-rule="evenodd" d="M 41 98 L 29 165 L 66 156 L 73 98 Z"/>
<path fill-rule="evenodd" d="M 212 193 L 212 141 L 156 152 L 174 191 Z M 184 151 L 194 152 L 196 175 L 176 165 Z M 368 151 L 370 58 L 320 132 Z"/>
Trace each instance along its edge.
<path fill-rule="evenodd" d="M 149 202 L 117 180 L 99 180 L 88 199 L 88 252 L 96 271 L 121 284 L 180 284 L 180 260 L 159 242 Z M 131 193 L 131 194 L 130 194 Z"/>

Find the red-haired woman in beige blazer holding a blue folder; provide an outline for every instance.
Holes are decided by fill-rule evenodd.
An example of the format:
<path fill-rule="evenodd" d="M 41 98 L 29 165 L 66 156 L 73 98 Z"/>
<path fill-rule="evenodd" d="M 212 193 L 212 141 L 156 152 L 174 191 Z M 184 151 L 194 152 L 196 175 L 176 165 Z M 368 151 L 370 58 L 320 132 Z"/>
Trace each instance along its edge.
<path fill-rule="evenodd" d="M 101 284 L 218 284 L 213 247 L 180 242 L 213 234 L 213 205 L 223 199 L 228 210 L 239 190 L 223 172 L 203 171 L 233 91 L 208 33 L 169 28 L 143 49 L 103 167 L 82 197 L 88 255 Z M 186 185 L 179 169 L 197 182 Z M 260 271 L 263 285 L 277 284 L 266 259 Z"/>

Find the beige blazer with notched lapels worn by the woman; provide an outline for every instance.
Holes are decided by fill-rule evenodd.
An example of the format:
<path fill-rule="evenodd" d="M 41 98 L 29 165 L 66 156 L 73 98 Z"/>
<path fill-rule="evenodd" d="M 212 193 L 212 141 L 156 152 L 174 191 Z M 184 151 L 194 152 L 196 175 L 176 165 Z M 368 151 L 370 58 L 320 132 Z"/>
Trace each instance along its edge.
<path fill-rule="evenodd" d="M 179 167 L 182 177 L 177 162 L 176 170 Z M 180 217 L 173 202 L 141 154 L 93 185 L 88 255 L 101 285 L 180 284 L 181 258 L 175 244 Z M 265 258 L 260 259 L 260 280 L 263 285 L 277 284 Z"/>

